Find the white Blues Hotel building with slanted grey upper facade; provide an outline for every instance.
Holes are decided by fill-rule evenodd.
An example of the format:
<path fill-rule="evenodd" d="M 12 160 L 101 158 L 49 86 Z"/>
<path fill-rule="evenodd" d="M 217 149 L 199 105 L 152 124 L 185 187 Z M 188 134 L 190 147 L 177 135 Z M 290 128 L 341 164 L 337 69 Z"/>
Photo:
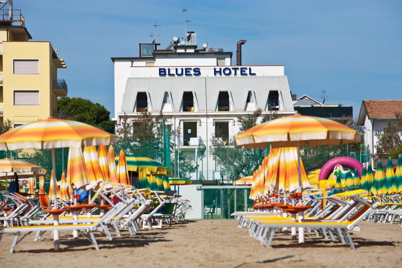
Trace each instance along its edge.
<path fill-rule="evenodd" d="M 115 114 L 119 124 L 126 114 L 135 119 L 145 109 L 167 124 L 180 126 L 176 137 L 180 154 L 194 159 L 199 173 L 191 179 L 220 179 L 219 163 L 209 154 L 215 130 L 226 146 L 233 146 L 238 134 L 238 116 L 263 110 L 295 113 L 283 65 L 242 66 L 241 45 L 237 64 L 232 52 L 203 44 L 197 49 L 196 35 L 187 34 L 181 44 L 172 41 L 166 49 L 159 44 L 139 44 L 139 57 L 111 58 L 115 74 Z M 199 144 L 205 144 L 201 155 Z M 226 177 L 226 176 L 225 176 Z"/>

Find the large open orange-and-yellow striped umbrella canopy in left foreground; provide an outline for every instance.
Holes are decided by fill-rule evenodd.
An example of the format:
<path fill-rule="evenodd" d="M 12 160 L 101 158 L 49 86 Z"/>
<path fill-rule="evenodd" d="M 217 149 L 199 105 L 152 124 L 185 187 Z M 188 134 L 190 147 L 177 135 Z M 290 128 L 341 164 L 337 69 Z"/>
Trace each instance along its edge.
<path fill-rule="evenodd" d="M 48 118 L 0 135 L 0 150 L 51 149 L 115 144 L 116 136 L 81 122 Z"/>

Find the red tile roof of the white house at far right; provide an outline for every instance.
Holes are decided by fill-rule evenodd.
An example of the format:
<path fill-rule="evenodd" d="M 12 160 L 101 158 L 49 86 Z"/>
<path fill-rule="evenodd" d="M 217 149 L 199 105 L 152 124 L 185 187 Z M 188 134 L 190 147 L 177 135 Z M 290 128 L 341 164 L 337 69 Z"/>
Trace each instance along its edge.
<path fill-rule="evenodd" d="M 396 118 L 395 112 L 402 113 L 402 100 L 363 101 L 369 118 Z"/>

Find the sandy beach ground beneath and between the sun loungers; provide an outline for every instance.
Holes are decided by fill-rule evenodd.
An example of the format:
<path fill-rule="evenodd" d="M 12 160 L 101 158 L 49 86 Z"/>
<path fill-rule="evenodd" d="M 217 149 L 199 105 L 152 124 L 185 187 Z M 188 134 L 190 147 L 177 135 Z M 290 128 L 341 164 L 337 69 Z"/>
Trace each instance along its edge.
<path fill-rule="evenodd" d="M 135 236 L 107 241 L 96 235 L 100 250 L 80 237 L 70 239 L 62 232 L 61 250 L 53 251 L 51 233 L 34 242 L 31 233 L 8 253 L 13 235 L 0 241 L 2 267 L 397 267 L 402 263 L 402 228 L 398 225 L 361 222 L 353 231 L 357 247 L 306 234 L 298 244 L 289 236 L 275 235 L 266 248 L 238 229 L 235 220 L 186 221 L 162 229 L 139 231 Z"/>

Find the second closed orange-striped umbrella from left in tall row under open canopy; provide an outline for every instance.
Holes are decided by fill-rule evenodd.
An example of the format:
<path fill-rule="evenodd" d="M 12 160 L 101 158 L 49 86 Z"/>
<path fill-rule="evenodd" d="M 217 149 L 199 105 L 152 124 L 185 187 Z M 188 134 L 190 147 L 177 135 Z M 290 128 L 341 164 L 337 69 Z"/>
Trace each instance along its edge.
<path fill-rule="evenodd" d="M 95 146 L 86 146 L 84 148 L 84 159 L 89 179 L 89 184 L 86 186 L 86 190 L 97 190 L 100 183 L 102 183 L 104 180 Z"/>

